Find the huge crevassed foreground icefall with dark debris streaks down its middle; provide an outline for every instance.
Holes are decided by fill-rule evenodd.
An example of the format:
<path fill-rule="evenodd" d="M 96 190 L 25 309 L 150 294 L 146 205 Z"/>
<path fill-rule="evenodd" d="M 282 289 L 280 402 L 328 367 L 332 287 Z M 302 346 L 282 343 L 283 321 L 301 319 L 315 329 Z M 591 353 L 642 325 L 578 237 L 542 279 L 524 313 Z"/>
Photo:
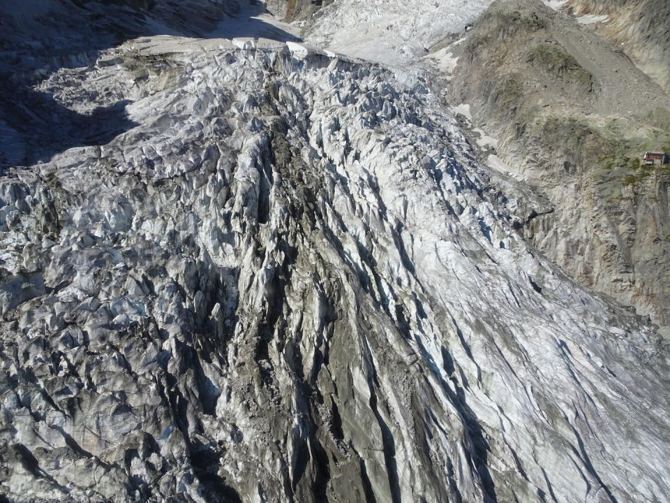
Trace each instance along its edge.
<path fill-rule="evenodd" d="M 165 35 L 41 82 L 54 141 L 114 113 L 0 179 L 0 493 L 670 501 L 666 343 L 528 245 L 435 87 Z"/>

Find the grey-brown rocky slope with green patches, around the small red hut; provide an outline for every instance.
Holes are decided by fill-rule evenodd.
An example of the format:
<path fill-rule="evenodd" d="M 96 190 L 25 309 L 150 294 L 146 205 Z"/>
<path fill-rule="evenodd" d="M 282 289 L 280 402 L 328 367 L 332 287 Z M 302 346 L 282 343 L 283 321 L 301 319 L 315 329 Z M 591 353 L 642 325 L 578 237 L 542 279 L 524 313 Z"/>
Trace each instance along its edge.
<path fill-rule="evenodd" d="M 447 87 L 549 199 L 523 227 L 572 277 L 670 323 L 670 97 L 598 34 L 539 2 L 493 3 Z"/>

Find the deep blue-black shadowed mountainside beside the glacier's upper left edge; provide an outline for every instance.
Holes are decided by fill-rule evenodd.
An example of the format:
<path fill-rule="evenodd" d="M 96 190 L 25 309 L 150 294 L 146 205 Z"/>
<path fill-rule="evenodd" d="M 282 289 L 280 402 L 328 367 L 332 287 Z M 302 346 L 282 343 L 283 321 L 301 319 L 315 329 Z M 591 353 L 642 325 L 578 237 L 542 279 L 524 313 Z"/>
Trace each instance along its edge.
<path fill-rule="evenodd" d="M 137 126 L 126 113 L 128 101 L 80 114 L 34 90 L 59 68 L 90 66 L 101 51 L 140 36 L 299 40 L 258 19 L 267 11 L 254 0 L 241 1 L 236 10 L 210 0 L 43 0 L 40 12 L 13 11 L 12 4 L 0 5 L 0 169 L 49 161 L 72 147 L 105 145 Z"/>

